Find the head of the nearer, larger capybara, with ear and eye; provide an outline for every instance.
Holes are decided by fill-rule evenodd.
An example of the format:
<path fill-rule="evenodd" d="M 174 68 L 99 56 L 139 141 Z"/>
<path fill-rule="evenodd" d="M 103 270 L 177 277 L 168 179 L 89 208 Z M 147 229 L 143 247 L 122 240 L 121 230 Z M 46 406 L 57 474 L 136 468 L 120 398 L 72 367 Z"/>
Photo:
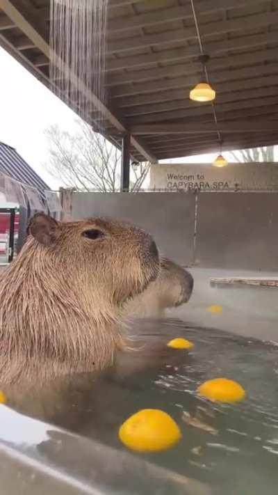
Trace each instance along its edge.
<path fill-rule="evenodd" d="M 38 213 L 28 234 L 27 245 L 35 246 L 40 259 L 55 258 L 61 268 L 113 304 L 142 292 L 158 274 L 154 240 L 126 223 L 99 218 L 61 223 Z"/>

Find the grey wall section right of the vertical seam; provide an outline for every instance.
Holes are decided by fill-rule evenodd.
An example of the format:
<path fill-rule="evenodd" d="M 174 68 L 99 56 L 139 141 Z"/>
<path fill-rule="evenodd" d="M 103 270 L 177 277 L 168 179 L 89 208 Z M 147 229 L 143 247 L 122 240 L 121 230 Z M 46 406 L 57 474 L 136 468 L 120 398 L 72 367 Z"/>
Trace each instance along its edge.
<path fill-rule="evenodd" d="M 278 269 L 278 193 L 198 196 L 195 265 Z"/>

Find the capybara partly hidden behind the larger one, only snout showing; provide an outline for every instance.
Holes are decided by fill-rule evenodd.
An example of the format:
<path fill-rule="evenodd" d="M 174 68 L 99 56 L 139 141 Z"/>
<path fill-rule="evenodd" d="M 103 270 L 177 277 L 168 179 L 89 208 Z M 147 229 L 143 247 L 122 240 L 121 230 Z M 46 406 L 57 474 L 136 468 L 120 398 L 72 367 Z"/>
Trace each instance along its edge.
<path fill-rule="evenodd" d="M 165 309 L 181 306 L 190 299 L 193 284 L 193 277 L 186 269 L 162 258 L 157 278 L 126 302 L 126 313 L 129 317 L 163 317 Z"/>

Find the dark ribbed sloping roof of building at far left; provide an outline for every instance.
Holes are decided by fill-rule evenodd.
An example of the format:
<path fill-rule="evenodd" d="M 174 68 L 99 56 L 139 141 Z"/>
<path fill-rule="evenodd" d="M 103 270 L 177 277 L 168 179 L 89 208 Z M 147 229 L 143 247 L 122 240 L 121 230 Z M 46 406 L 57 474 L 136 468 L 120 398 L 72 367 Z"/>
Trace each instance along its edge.
<path fill-rule="evenodd" d="M 45 189 L 50 187 L 33 171 L 30 165 L 17 153 L 15 148 L 0 142 L 0 172 L 10 178 L 35 187 L 44 194 Z"/>

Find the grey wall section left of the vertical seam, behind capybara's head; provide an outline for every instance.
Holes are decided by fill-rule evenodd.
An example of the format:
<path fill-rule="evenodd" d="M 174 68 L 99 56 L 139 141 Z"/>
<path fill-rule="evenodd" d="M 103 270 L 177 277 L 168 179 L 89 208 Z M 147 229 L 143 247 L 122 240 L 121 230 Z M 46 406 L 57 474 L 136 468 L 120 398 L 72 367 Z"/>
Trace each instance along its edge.
<path fill-rule="evenodd" d="M 193 264 L 195 196 L 177 193 L 72 195 L 72 217 L 113 217 L 149 231 L 165 256 Z"/>

